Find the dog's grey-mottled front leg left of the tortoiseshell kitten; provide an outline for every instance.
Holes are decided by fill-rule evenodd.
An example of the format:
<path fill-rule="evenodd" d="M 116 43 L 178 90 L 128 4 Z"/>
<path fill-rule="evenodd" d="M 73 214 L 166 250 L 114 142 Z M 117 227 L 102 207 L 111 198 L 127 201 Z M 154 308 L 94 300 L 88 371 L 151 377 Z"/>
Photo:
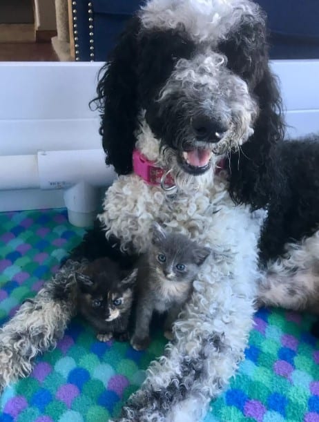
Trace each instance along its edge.
<path fill-rule="evenodd" d="M 74 271 L 81 264 L 68 261 L 35 298 L 26 300 L 0 329 L 0 391 L 28 376 L 32 360 L 55 347 L 75 312 L 77 284 Z"/>

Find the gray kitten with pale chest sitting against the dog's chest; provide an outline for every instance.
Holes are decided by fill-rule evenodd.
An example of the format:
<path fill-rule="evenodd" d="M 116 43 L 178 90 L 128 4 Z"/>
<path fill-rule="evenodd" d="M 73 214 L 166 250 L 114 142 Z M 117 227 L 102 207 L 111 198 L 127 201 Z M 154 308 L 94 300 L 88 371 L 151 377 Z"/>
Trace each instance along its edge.
<path fill-rule="evenodd" d="M 172 338 L 171 327 L 182 306 L 191 295 L 193 280 L 200 265 L 211 253 L 184 235 L 166 233 L 153 224 L 153 238 L 148 253 L 139 260 L 137 274 L 137 308 L 131 345 L 146 349 L 150 342 L 149 326 L 153 312 L 168 311 L 165 336 Z"/>

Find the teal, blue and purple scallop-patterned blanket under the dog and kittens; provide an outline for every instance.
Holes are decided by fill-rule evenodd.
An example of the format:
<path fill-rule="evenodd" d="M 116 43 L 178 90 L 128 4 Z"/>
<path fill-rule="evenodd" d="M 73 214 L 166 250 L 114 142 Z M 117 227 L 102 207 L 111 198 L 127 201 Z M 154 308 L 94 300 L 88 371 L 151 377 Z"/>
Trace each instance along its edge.
<path fill-rule="evenodd" d="M 0 213 L 0 324 L 35 296 L 84 230 L 66 210 Z M 246 359 L 229 388 L 211 403 L 205 422 L 319 422 L 319 343 L 313 316 L 260 309 Z M 153 336 L 145 352 L 101 343 L 74 318 L 57 347 L 38 356 L 28 378 L 6 387 L 0 422 L 96 422 L 116 416 L 165 345 Z M 195 421 L 194 421 L 195 422 Z"/>

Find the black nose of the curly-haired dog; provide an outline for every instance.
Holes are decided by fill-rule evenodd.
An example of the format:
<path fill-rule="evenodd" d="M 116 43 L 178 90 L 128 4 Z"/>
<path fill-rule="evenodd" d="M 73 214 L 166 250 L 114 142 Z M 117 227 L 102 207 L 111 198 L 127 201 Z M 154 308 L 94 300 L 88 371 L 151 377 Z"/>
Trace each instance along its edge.
<path fill-rule="evenodd" d="M 218 142 L 227 130 L 221 123 L 205 115 L 193 117 L 191 125 L 194 135 L 199 141 Z"/>

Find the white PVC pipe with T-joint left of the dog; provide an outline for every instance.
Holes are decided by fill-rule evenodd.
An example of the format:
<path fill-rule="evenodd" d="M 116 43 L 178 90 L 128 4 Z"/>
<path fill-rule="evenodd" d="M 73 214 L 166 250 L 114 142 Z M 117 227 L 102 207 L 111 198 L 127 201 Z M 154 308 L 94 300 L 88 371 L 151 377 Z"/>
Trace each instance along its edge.
<path fill-rule="evenodd" d="M 93 224 L 99 186 L 111 184 L 115 171 L 101 150 L 39 151 L 37 155 L 0 156 L 0 190 L 65 189 L 70 223 Z"/>

